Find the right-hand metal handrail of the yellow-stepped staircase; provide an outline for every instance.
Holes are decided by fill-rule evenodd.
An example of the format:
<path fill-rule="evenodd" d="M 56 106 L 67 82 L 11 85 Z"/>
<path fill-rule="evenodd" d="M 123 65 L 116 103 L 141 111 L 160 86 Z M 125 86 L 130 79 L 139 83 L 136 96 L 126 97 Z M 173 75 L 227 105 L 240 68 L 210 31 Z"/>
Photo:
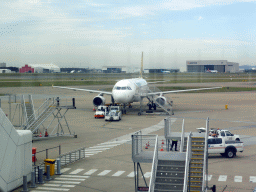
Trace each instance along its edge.
<path fill-rule="evenodd" d="M 203 166 L 203 182 L 202 182 L 203 192 L 208 187 L 208 134 L 209 134 L 209 117 L 207 117 L 206 119 L 205 142 L 204 142 L 204 166 Z"/>

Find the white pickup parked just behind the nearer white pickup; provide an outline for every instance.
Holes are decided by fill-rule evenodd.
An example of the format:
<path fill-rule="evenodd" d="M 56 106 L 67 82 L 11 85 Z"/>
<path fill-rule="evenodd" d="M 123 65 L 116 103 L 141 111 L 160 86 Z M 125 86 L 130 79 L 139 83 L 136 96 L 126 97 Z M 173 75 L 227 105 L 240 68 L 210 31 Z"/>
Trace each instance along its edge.
<path fill-rule="evenodd" d="M 197 131 L 199 133 L 205 132 L 205 128 L 204 127 L 197 128 Z M 230 133 L 229 130 L 224 130 L 224 129 L 211 128 L 211 130 L 209 131 L 209 136 L 224 138 L 225 140 L 240 141 L 240 136 L 239 135 L 234 135 L 234 134 Z"/>

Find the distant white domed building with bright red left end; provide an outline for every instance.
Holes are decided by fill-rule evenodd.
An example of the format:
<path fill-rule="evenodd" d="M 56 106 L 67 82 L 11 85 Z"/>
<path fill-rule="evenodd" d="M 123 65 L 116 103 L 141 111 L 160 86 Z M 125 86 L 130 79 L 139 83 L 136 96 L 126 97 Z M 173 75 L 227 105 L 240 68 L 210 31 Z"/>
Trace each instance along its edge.
<path fill-rule="evenodd" d="M 26 64 L 20 73 L 59 73 L 60 68 L 55 64 Z"/>

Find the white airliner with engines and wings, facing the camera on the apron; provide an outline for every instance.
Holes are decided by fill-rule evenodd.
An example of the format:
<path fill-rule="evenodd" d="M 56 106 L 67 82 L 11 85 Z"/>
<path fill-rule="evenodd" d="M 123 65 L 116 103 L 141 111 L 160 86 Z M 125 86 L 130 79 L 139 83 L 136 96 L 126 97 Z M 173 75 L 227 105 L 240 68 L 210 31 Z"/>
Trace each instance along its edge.
<path fill-rule="evenodd" d="M 143 53 L 141 59 L 141 72 L 143 69 Z M 156 83 L 156 82 L 152 82 Z M 90 90 L 90 89 L 79 89 L 79 88 L 71 88 L 71 87 L 61 87 L 61 86 L 53 86 L 60 89 L 70 89 L 75 91 L 87 91 L 91 93 L 99 93 L 96 97 L 93 98 L 94 106 L 100 106 L 105 104 L 105 95 L 110 95 L 112 103 L 120 103 L 124 106 L 124 113 L 126 113 L 125 107 L 133 102 L 142 102 L 144 98 L 147 98 L 149 103 L 149 110 L 159 105 L 166 105 L 167 99 L 164 97 L 164 94 L 169 93 L 180 93 L 187 91 L 198 91 L 198 90 L 208 90 L 208 89 L 218 89 L 221 87 L 211 87 L 211 88 L 200 88 L 200 89 L 186 89 L 186 90 L 174 90 L 174 91 L 163 91 L 163 92 L 152 92 L 148 86 L 149 83 L 143 78 L 132 78 L 132 79 L 123 79 L 118 81 L 111 92 L 108 91 L 98 91 L 98 90 Z M 141 115 L 141 110 L 138 115 Z"/>

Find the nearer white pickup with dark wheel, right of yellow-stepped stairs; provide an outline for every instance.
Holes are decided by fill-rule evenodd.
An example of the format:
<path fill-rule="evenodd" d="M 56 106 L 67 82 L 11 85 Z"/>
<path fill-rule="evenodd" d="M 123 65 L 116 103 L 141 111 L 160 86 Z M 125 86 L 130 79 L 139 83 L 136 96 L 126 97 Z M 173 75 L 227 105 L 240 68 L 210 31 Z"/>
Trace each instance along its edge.
<path fill-rule="evenodd" d="M 223 138 L 208 138 L 208 153 L 220 153 L 222 156 L 233 158 L 237 152 L 244 151 L 244 143 L 241 141 L 228 140 Z"/>

